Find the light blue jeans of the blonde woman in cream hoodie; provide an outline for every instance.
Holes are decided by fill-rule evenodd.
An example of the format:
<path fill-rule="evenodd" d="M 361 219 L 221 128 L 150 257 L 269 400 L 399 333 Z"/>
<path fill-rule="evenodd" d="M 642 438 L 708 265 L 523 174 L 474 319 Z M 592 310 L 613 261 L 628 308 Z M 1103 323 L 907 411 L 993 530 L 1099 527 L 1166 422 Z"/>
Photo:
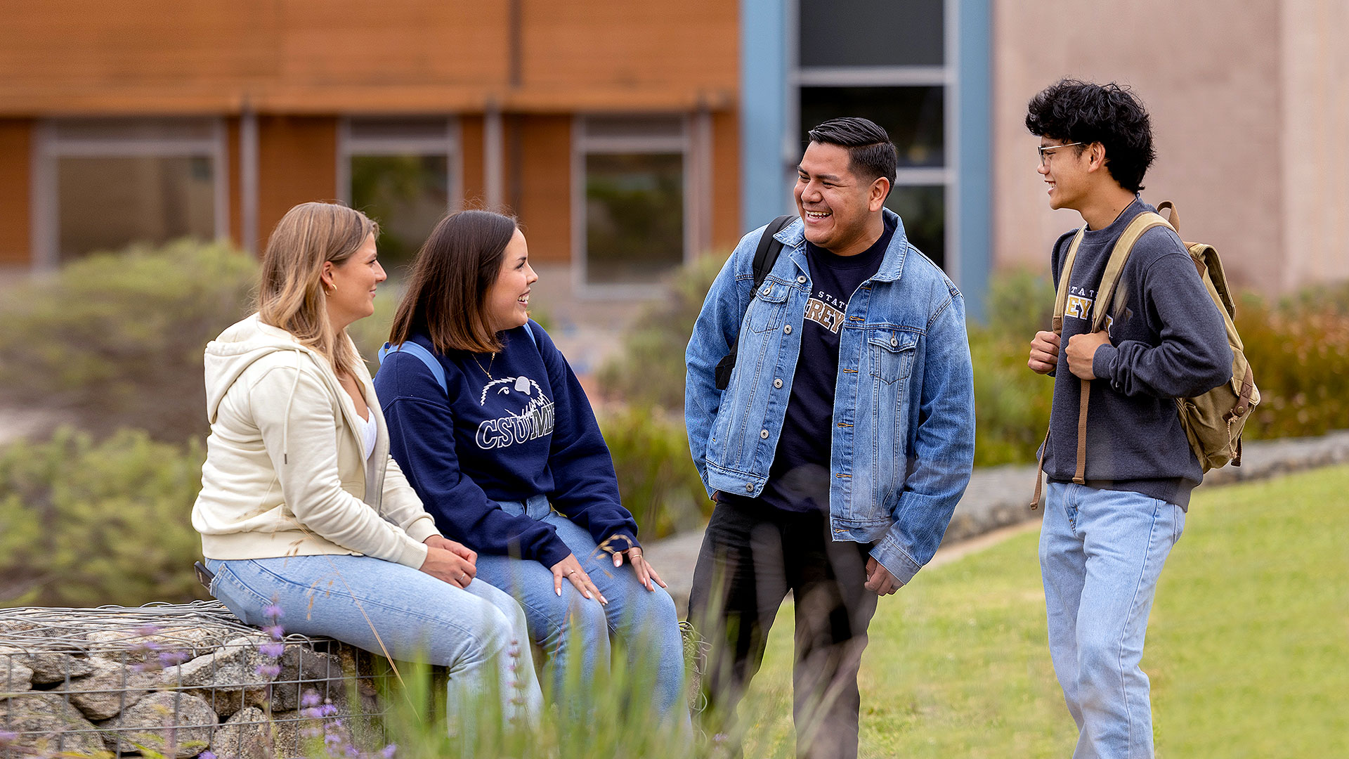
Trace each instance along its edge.
<path fill-rule="evenodd" d="M 536 723 L 542 712 L 525 613 L 510 596 L 482 579 L 459 589 L 371 556 L 205 563 L 216 574 L 210 594 L 247 624 L 271 624 L 264 609 L 275 604 L 283 612 L 278 623 L 286 632 L 322 635 L 375 652 L 383 642 L 397 659 L 444 666 L 449 705 L 460 702 L 464 693 L 499 687 L 502 713 L 509 718 Z"/>

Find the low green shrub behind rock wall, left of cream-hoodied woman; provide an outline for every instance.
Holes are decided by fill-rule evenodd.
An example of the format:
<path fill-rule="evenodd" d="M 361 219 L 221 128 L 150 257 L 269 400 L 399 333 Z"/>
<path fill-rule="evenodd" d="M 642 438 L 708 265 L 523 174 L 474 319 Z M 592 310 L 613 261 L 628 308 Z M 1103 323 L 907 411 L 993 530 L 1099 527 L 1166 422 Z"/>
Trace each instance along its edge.
<path fill-rule="evenodd" d="M 192 504 L 205 454 L 119 431 L 58 429 L 0 450 L 0 605 L 205 598 Z"/>

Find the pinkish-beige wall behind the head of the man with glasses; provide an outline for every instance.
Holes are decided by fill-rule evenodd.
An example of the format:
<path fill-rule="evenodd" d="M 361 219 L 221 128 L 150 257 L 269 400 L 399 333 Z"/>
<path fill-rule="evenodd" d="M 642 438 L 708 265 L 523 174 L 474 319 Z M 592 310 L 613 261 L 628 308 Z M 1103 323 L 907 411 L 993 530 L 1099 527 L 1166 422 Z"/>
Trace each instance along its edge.
<path fill-rule="evenodd" d="M 1282 39 L 1292 32 L 1280 36 L 1279 30 L 1288 16 L 1299 15 L 1294 5 L 1319 7 L 1322 15 L 1338 16 L 1338 26 L 1325 31 L 1317 53 L 1280 51 Z M 1317 69 L 1321 59 L 1333 57 L 1344 66 L 1349 57 L 1342 46 L 1333 50 L 1330 39 L 1349 31 L 1345 14 L 1340 0 L 1251 0 L 1240 7 L 1168 0 L 994 0 L 994 266 L 1048 271 L 1050 246 L 1082 223 L 1071 211 L 1050 211 L 1035 170 L 1037 140 L 1024 124 L 1027 101 L 1059 77 L 1072 76 L 1129 84 L 1141 96 L 1152 113 L 1157 149 L 1143 197 L 1153 204 L 1176 201 L 1183 215 L 1182 236 L 1214 244 L 1237 285 L 1265 290 L 1288 286 L 1286 230 L 1291 217 L 1284 211 L 1291 197 L 1315 194 L 1294 189 L 1288 174 L 1310 172 L 1325 181 L 1338 180 L 1342 192 L 1346 97 L 1342 73 L 1309 72 L 1296 80 L 1302 89 L 1287 89 L 1288 76 L 1280 70 L 1288 59 Z M 1314 30 L 1318 23 L 1306 19 L 1298 28 Z M 1313 150 L 1286 138 L 1296 109 L 1325 113 L 1321 105 L 1296 101 L 1318 86 L 1336 85 L 1340 120 L 1322 117 L 1317 123 L 1323 124 L 1323 142 L 1341 142 L 1338 169 L 1327 165 L 1317 173 L 1302 162 L 1286 165 L 1290 150 L 1307 150 L 1309 155 Z M 1344 212 L 1340 205 L 1334 215 L 1342 217 Z"/>

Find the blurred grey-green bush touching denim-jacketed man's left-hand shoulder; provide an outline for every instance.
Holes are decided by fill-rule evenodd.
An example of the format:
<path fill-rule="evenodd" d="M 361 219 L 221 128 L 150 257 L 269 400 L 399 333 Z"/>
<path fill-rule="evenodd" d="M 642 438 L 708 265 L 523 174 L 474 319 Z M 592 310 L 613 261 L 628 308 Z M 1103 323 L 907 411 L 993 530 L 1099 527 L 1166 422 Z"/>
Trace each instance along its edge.
<path fill-rule="evenodd" d="M 623 336 L 623 350 L 600 367 L 596 380 L 604 397 L 684 408 L 684 348 L 724 263 L 726 255 L 706 255 L 680 267 L 668 281 L 665 298 L 642 312 Z"/>

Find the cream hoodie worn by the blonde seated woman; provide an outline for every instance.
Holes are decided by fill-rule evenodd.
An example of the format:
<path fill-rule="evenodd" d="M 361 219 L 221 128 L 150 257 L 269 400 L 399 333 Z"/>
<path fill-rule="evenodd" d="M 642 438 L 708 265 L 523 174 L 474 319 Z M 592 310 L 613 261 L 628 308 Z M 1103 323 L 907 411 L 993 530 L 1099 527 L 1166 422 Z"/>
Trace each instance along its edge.
<path fill-rule="evenodd" d="M 258 315 L 206 344 L 206 463 L 192 525 L 212 559 L 367 555 L 420 569 L 432 516 L 389 455 L 389 428 L 364 363 L 375 415 L 366 456 L 360 416 L 328 361 Z"/>

